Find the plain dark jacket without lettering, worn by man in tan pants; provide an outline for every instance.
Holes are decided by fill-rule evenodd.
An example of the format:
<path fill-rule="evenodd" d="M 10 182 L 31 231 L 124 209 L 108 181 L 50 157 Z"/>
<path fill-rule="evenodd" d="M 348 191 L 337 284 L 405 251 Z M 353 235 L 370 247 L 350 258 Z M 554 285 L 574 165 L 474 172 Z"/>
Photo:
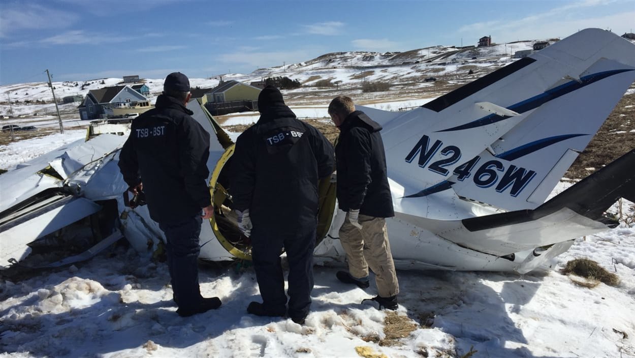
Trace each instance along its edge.
<path fill-rule="evenodd" d="M 362 111 L 349 114 L 340 125 L 335 145 L 337 201 L 340 209 L 392 217 L 391 188 L 386 175 L 382 127 Z"/>

